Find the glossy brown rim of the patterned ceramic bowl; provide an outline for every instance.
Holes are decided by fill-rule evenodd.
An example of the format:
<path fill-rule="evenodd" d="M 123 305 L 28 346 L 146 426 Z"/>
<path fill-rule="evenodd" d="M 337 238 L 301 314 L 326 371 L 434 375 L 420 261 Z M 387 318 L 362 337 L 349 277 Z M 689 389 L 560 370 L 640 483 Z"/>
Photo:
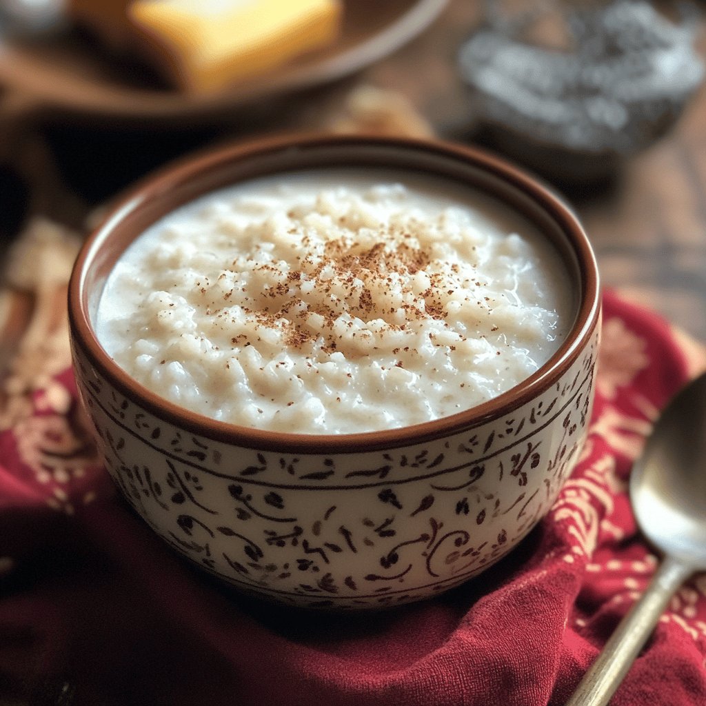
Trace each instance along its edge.
<path fill-rule="evenodd" d="M 107 273 L 124 246 L 147 225 L 213 189 L 257 176 L 337 166 L 414 169 L 437 177 L 455 178 L 461 183 L 464 175 L 467 179 L 475 175 L 481 189 L 485 188 L 491 196 L 498 198 L 497 187 L 502 185 L 507 192 L 505 198 L 510 196 L 520 202 L 514 204 L 515 208 L 520 208 L 520 213 L 521 203 L 534 211 L 534 215 L 528 215 L 526 210 L 523 213 L 531 222 L 537 224 L 538 217 L 553 222 L 555 231 L 558 226 L 568 250 L 573 253 L 580 279 L 580 303 L 566 341 L 525 381 L 465 412 L 397 429 L 350 434 L 264 431 L 204 417 L 168 402 L 136 383 L 102 349 L 90 324 L 86 285 L 90 268 L 96 266 L 97 260 L 97 266 L 101 264 L 99 256 L 102 256 L 103 266 L 108 265 Z M 231 178 L 224 178 L 227 176 Z M 495 182 L 496 191 L 489 188 L 489 182 Z M 126 223 L 131 220 L 140 223 L 140 227 L 126 228 Z M 124 246 L 114 256 L 106 256 L 105 241 L 115 240 L 113 234 L 120 233 L 121 227 L 125 229 L 121 241 Z M 563 259 L 566 261 L 566 258 L 565 253 Z M 558 381 L 592 335 L 599 321 L 599 312 L 599 277 L 590 242 L 575 215 L 554 193 L 521 169 L 482 150 L 439 140 L 387 137 L 299 135 L 265 138 L 209 150 L 162 169 L 133 188 L 92 232 L 78 254 L 68 287 L 68 317 L 75 345 L 80 345 L 88 353 L 95 368 L 126 398 L 155 417 L 214 441 L 292 453 L 337 454 L 397 448 L 473 429 L 490 419 L 504 416 Z"/>

